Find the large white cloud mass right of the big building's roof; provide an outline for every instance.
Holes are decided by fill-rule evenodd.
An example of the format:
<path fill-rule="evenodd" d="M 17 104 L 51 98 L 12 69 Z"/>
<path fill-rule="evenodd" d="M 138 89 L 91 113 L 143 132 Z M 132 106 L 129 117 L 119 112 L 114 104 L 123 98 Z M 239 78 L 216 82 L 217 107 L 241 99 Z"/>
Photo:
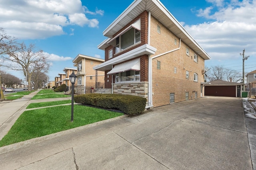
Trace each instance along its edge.
<path fill-rule="evenodd" d="M 244 48 L 246 54 L 255 56 L 256 1 L 232 0 L 228 3 L 224 0 L 207 0 L 207 2 L 213 3 L 212 6 L 198 10 L 198 16 L 212 21 L 184 25 L 184 28 L 212 57 L 212 60 L 242 61 L 239 53 Z"/>

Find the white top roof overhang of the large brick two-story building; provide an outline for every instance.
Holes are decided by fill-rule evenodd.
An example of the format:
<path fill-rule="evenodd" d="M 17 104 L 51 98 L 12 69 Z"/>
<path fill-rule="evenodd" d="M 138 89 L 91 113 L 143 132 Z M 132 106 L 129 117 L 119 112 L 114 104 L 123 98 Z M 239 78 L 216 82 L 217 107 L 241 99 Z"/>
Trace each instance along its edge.
<path fill-rule="evenodd" d="M 120 31 L 125 25 L 134 20 L 143 11 L 148 11 L 151 15 L 160 21 L 167 29 L 169 29 L 178 38 L 181 38 L 195 53 L 200 55 L 204 60 L 211 57 L 198 45 L 191 35 L 182 27 L 182 25 L 174 18 L 167 8 L 159 0 L 134 0 L 120 16 L 116 18 L 104 31 L 103 35 L 109 39 L 98 45 L 98 49 L 105 49 L 109 45 L 107 42 Z"/>

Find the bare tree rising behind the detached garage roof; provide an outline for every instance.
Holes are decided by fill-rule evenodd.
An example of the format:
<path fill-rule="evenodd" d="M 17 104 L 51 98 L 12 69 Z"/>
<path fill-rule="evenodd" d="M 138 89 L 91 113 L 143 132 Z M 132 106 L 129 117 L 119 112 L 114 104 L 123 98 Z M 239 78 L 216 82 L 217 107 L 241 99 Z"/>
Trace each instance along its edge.
<path fill-rule="evenodd" d="M 242 79 L 242 76 L 238 71 L 224 68 L 224 66 L 212 66 L 208 70 L 206 77 L 208 81 L 224 80 L 229 82 L 231 79 L 232 82 L 238 82 Z"/>

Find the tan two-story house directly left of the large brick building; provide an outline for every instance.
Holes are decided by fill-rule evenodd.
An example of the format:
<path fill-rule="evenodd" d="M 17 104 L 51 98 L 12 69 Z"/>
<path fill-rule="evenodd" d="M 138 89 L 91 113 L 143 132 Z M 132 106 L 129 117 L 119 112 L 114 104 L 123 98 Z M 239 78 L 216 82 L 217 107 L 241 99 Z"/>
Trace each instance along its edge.
<path fill-rule="evenodd" d="M 92 89 L 97 85 L 99 88 L 104 84 L 104 71 L 98 71 L 96 76 L 96 71 L 93 69 L 94 66 L 102 64 L 103 59 L 78 54 L 72 62 L 77 67 L 77 93 L 88 93 L 88 89 L 85 87 L 90 86 L 89 88 Z"/>

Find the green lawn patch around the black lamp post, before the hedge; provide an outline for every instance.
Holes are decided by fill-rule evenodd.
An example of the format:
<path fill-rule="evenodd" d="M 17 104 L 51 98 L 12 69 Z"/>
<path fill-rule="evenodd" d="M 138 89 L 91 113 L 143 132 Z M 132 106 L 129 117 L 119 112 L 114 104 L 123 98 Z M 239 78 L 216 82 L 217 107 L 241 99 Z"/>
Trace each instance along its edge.
<path fill-rule="evenodd" d="M 70 122 L 71 106 L 56 106 L 24 111 L 8 134 L 0 141 L 0 147 L 120 115 L 123 115 L 123 113 L 74 105 L 74 121 Z"/>

